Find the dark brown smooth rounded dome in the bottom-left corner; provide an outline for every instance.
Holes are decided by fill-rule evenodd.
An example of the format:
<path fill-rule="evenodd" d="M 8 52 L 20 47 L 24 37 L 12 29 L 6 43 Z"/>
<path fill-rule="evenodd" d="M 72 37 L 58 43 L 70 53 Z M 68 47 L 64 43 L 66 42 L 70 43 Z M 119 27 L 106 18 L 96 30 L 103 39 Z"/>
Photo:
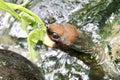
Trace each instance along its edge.
<path fill-rule="evenodd" d="M 0 80 L 44 80 L 39 68 L 21 55 L 0 49 Z"/>

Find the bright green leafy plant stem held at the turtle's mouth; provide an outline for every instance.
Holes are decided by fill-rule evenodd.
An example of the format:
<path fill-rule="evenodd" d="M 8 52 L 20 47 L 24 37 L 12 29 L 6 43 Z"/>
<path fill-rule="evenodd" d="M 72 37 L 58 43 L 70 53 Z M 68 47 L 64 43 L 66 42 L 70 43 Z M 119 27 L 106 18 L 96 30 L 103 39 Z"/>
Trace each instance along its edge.
<path fill-rule="evenodd" d="M 30 59 L 37 57 L 33 46 L 38 42 L 39 39 L 44 41 L 44 32 L 46 31 L 43 21 L 33 12 L 24 7 L 28 3 L 25 2 L 21 5 L 7 3 L 0 0 L 0 9 L 10 13 L 14 16 L 20 23 L 23 30 L 26 31 L 28 50 L 30 52 Z M 33 31 L 29 32 L 27 27 L 31 26 Z"/>

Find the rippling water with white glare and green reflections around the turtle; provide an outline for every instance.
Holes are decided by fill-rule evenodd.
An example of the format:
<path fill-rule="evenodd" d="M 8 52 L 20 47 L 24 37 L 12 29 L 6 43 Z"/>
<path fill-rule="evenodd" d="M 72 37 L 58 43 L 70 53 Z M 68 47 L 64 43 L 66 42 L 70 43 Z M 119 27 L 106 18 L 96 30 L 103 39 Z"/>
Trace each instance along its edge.
<path fill-rule="evenodd" d="M 6 1 L 14 3 L 22 2 L 22 0 Z M 75 25 L 92 36 L 93 41 L 97 44 L 106 44 L 103 41 L 104 39 L 107 42 L 111 41 L 113 43 L 116 39 L 112 40 L 113 37 L 119 38 L 119 35 L 114 36 L 120 30 L 119 27 L 116 27 L 120 23 L 119 19 L 117 19 L 120 15 L 119 0 L 31 0 L 27 7 L 40 16 L 46 24 L 69 22 Z M 9 14 L 4 12 L 0 12 L 0 14 L 0 38 L 2 38 L 0 40 L 0 47 L 5 48 L 3 47 L 5 44 L 8 49 L 16 52 L 22 51 L 22 55 L 28 57 L 26 35 L 21 30 L 20 24 Z M 114 24 L 115 22 L 117 23 Z M 111 29 L 114 29 L 114 31 L 111 31 Z M 112 44 L 112 46 L 118 45 Z M 39 45 L 39 43 L 36 45 L 36 50 L 40 55 L 40 60 L 36 64 L 42 69 L 46 80 L 90 79 L 90 68 L 76 57 L 60 50 L 46 48 L 44 45 Z M 114 48 L 113 50 L 116 49 Z M 116 61 L 119 63 L 119 58 Z M 105 78 L 108 79 L 107 76 Z M 91 80 L 96 80 L 96 78 L 93 76 Z"/>

